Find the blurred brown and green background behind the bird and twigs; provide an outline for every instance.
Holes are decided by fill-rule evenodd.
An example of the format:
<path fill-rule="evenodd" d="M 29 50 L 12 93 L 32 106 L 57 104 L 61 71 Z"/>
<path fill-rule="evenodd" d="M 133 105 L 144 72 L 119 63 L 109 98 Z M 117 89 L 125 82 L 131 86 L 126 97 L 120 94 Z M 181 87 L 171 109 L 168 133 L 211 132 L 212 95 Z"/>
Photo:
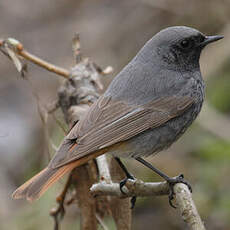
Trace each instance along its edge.
<path fill-rule="evenodd" d="M 31 53 L 59 66 L 73 66 L 71 39 L 80 33 L 82 50 L 114 73 L 105 86 L 159 30 L 173 25 L 197 28 L 224 40 L 202 53 L 206 102 L 198 121 L 166 152 L 149 160 L 171 176 L 183 172 L 207 229 L 230 229 L 230 2 L 229 0 L 27 0 L 0 1 L 0 38 L 14 37 Z M 53 229 L 49 210 L 62 185 L 38 202 L 12 201 L 12 191 L 48 162 L 47 141 L 34 92 L 48 105 L 57 97 L 59 76 L 29 64 L 30 83 L 0 54 L 0 229 Z M 32 87 L 31 87 L 32 85 Z M 63 121 L 61 113 L 57 114 Z M 55 122 L 49 132 L 56 145 L 64 134 Z M 150 170 L 129 161 L 130 171 L 145 181 L 159 181 Z M 135 172 L 134 172 L 135 169 Z M 68 207 L 62 229 L 78 229 L 79 210 Z M 106 219 L 109 229 L 115 229 Z M 148 223 L 148 224 L 146 224 Z M 134 230 L 184 229 L 166 197 L 138 199 Z"/>

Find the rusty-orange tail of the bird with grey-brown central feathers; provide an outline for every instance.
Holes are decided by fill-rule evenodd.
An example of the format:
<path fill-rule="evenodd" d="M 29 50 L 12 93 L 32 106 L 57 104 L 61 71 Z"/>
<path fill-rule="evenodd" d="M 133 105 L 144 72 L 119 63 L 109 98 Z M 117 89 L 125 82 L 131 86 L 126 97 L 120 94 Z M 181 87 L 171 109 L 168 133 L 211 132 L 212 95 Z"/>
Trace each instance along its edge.
<path fill-rule="evenodd" d="M 26 183 L 21 185 L 13 194 L 13 199 L 26 198 L 28 201 L 37 200 L 51 185 L 63 177 L 66 173 L 74 168 L 85 164 L 89 160 L 103 154 L 106 149 L 86 155 L 76 161 L 68 163 L 59 168 L 50 168 L 49 166 L 43 169 L 40 173 L 32 177 Z"/>

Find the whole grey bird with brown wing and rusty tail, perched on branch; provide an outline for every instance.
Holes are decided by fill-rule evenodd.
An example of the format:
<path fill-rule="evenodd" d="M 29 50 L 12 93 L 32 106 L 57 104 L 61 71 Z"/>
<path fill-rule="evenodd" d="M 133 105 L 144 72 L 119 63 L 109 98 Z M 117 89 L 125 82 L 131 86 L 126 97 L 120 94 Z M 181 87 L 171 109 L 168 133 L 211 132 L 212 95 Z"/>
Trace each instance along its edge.
<path fill-rule="evenodd" d="M 143 157 L 169 148 L 198 116 L 205 95 L 200 55 L 222 38 L 186 26 L 155 34 L 65 136 L 48 166 L 12 197 L 34 201 L 66 173 L 105 153 L 115 156 L 121 167 L 120 158 L 133 158 L 169 183 L 183 181 Z"/>

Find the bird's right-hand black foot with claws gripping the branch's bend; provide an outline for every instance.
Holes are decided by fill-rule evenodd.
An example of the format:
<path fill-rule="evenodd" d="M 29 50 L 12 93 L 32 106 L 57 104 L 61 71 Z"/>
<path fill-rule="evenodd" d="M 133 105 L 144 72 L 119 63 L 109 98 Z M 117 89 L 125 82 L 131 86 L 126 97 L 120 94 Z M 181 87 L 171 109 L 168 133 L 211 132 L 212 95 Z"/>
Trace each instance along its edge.
<path fill-rule="evenodd" d="M 172 178 L 168 178 L 167 182 L 169 184 L 169 204 L 171 207 L 176 208 L 176 206 L 172 203 L 172 200 L 174 199 L 174 185 L 177 183 L 183 183 L 185 185 L 188 186 L 190 192 L 192 192 L 192 186 L 184 179 L 184 175 L 180 174 L 177 177 L 172 177 Z"/>

